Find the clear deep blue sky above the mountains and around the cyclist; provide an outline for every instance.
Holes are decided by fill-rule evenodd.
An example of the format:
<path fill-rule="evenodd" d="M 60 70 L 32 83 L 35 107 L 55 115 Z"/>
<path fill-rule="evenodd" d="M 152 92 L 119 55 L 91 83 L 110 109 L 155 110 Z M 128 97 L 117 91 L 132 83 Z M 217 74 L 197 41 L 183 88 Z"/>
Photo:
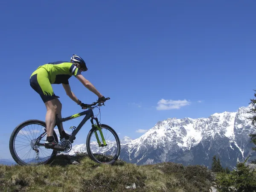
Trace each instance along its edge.
<path fill-rule="evenodd" d="M 3 1 L 0 3 L 0 156 L 27 119 L 45 120 L 46 108 L 29 85 L 42 64 L 80 55 L 82 74 L 111 100 L 101 122 L 132 139 L 169 117 L 199 118 L 247 106 L 256 89 L 256 2 Z M 75 77 L 75 95 L 97 97 Z M 62 116 L 81 112 L 61 85 L 52 85 Z M 96 110 L 95 113 L 98 111 Z M 64 123 L 66 130 L 82 117 Z M 85 143 L 90 122 L 73 144 Z"/>

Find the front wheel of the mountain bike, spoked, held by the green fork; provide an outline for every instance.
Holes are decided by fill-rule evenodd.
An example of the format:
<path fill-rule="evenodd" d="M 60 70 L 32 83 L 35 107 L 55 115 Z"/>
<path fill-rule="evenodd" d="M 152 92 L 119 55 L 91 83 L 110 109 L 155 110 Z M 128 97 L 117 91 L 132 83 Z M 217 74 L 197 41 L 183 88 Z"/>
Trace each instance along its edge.
<path fill-rule="evenodd" d="M 87 135 L 87 154 L 97 163 L 113 164 L 116 162 L 120 154 L 119 137 L 116 134 L 116 131 L 108 125 L 101 124 L 100 128 L 102 129 L 102 134 L 107 145 L 103 145 L 101 134 L 99 130 L 94 127 Z M 97 137 L 100 144 L 98 143 Z"/>

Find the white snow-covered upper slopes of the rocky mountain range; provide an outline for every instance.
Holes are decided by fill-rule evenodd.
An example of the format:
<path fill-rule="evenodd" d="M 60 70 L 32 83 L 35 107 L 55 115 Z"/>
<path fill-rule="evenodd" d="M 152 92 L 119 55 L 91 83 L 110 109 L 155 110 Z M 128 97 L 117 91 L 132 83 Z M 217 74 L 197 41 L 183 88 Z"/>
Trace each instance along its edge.
<path fill-rule="evenodd" d="M 247 108 L 239 108 L 240 113 L 243 113 L 241 116 L 244 116 L 244 110 Z M 214 113 L 209 118 L 198 119 L 189 117 L 183 119 L 168 118 L 157 122 L 153 128 L 138 139 L 133 140 L 132 143 L 137 143 L 139 146 L 146 142 L 155 147 L 160 143 L 162 145 L 172 143 L 181 148 L 191 148 L 204 138 L 209 136 L 214 138 L 215 134 L 234 140 L 235 119 L 238 113 L 239 111 L 224 111 L 222 113 Z"/>

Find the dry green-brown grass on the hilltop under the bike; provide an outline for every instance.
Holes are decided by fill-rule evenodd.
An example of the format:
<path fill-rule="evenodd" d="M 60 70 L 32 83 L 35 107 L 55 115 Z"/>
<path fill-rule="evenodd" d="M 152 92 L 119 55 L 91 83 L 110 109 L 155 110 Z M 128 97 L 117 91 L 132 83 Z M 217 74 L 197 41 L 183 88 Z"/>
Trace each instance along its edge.
<path fill-rule="evenodd" d="M 79 164 L 71 164 L 70 159 Z M 84 154 L 59 155 L 50 165 L 0 165 L 1 192 L 209 192 L 213 181 L 204 166 L 137 166 L 122 160 L 113 166 L 100 165 Z M 134 183 L 136 189 L 126 188 Z"/>

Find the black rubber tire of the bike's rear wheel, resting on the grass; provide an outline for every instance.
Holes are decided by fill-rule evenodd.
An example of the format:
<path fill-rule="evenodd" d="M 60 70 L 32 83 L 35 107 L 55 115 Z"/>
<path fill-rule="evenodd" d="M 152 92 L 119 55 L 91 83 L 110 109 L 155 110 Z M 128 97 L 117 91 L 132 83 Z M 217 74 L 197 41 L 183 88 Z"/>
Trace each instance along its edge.
<path fill-rule="evenodd" d="M 16 154 L 15 152 L 15 148 L 14 148 L 14 140 L 15 140 L 15 137 L 17 136 L 18 132 L 23 128 L 25 127 L 26 125 L 31 125 L 31 124 L 38 124 L 38 125 L 42 125 L 44 128 L 46 128 L 46 123 L 41 121 L 41 120 L 38 120 L 38 119 L 30 119 L 30 120 L 26 120 L 22 123 L 20 123 L 19 125 L 17 125 L 17 127 L 12 131 L 12 134 L 10 136 L 10 140 L 9 140 L 9 150 L 10 150 L 10 153 L 12 155 L 12 158 L 15 160 L 15 162 L 19 165 L 31 165 L 29 163 L 25 163 L 24 161 L 22 161 Z M 58 136 L 56 135 L 55 131 L 53 130 L 53 137 L 55 138 L 55 141 L 58 142 Z M 51 154 L 51 157 L 49 157 L 48 160 L 44 161 L 43 163 L 41 164 L 48 164 L 48 163 L 51 163 L 54 159 L 54 157 L 56 156 L 57 154 L 57 151 L 53 150 L 52 151 L 52 154 Z M 33 164 L 33 165 L 37 165 L 37 164 Z"/>

